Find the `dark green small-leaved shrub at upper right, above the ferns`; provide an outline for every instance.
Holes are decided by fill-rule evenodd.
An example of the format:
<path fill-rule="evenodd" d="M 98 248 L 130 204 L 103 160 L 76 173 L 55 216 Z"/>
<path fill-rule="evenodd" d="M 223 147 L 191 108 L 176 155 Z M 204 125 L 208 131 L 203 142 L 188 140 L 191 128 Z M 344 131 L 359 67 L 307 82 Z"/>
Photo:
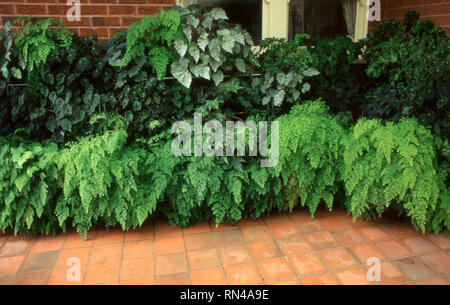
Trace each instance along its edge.
<path fill-rule="evenodd" d="M 416 117 L 440 137 L 450 137 L 450 41 L 418 13 L 403 24 L 383 23 L 369 35 L 364 58 L 373 79 L 363 103 L 370 118 Z"/>

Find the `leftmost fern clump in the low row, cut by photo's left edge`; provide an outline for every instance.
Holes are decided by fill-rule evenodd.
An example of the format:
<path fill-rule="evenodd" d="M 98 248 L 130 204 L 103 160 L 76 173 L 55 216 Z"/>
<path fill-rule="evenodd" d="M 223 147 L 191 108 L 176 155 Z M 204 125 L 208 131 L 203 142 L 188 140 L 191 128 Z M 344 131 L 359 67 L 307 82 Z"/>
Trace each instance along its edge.
<path fill-rule="evenodd" d="M 0 138 L 0 230 L 54 233 L 58 147 L 12 135 Z"/>

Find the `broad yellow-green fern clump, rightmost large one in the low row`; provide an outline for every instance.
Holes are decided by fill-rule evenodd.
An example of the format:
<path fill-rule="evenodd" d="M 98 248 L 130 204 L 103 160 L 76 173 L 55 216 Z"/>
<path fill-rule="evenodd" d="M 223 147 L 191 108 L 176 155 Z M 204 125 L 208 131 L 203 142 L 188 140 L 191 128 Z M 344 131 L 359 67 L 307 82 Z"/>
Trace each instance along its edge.
<path fill-rule="evenodd" d="M 386 126 L 361 119 L 343 143 L 342 177 L 352 215 L 381 216 L 392 207 L 425 231 L 440 191 L 431 133 L 412 119 Z"/>

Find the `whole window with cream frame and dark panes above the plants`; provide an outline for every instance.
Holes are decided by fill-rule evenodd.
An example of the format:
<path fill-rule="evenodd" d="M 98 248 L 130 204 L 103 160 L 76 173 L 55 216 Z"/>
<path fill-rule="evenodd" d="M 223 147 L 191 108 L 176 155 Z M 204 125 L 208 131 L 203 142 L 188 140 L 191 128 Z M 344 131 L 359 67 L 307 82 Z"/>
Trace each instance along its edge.
<path fill-rule="evenodd" d="M 256 44 L 267 37 L 292 39 L 297 33 L 355 40 L 367 35 L 366 0 L 178 0 L 179 5 L 222 7 Z"/>

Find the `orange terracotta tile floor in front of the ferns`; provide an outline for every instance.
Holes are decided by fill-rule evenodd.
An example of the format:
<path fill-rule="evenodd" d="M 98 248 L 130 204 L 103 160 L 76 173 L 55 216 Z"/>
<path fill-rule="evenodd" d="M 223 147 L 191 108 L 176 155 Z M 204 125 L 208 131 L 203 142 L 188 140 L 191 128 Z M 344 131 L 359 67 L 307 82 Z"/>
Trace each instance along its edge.
<path fill-rule="evenodd" d="M 367 259 L 381 281 L 367 280 Z M 79 263 L 80 281 L 69 281 Z M 0 235 L 0 284 L 450 284 L 450 239 L 403 221 L 305 209 L 236 226 L 166 221 L 132 232 Z"/>

